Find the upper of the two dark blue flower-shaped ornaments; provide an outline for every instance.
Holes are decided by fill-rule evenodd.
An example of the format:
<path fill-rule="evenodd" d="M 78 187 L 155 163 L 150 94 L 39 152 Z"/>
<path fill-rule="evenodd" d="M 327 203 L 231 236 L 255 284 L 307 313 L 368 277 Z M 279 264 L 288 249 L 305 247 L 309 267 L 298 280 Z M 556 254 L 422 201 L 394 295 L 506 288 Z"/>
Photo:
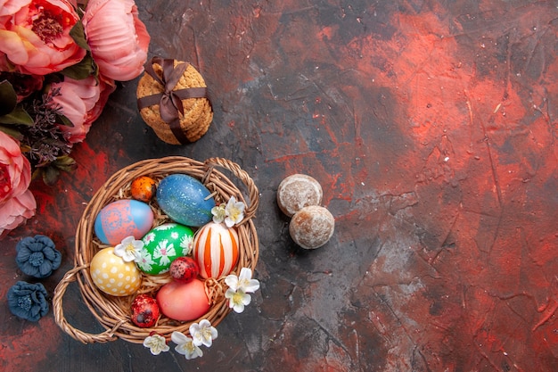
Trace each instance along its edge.
<path fill-rule="evenodd" d="M 56 250 L 53 241 L 47 236 L 24 237 L 15 249 L 18 252 L 15 258 L 18 267 L 31 277 L 48 277 L 62 262 L 61 252 Z"/>

